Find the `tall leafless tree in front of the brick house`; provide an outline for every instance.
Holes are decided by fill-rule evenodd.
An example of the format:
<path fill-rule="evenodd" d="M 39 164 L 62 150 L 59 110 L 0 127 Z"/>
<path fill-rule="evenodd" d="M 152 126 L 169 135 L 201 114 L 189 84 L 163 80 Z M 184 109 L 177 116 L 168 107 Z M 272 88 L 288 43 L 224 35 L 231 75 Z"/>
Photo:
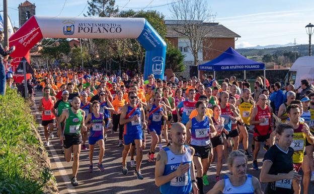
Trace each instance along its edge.
<path fill-rule="evenodd" d="M 213 22 L 215 15 L 208 8 L 208 0 L 183 0 L 175 3 L 173 0 L 170 11 L 172 18 L 176 21 L 172 28 L 182 37 L 188 38 L 189 49 L 194 57 L 194 65 L 198 65 L 198 52 L 202 51 L 203 41 L 208 39 L 212 31 L 210 22 Z M 208 39 L 209 40 L 209 39 Z M 207 47 L 208 43 L 206 44 Z"/>

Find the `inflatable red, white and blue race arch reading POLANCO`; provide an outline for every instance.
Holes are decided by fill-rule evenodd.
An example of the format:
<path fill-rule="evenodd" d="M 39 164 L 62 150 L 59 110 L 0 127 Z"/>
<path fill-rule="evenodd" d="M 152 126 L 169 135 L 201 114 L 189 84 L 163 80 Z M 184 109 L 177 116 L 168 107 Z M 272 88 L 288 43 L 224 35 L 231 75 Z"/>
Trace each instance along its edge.
<path fill-rule="evenodd" d="M 32 16 L 9 39 L 10 47 L 16 46 L 11 54 L 13 71 L 23 57 L 30 62 L 29 50 L 42 38 L 136 38 L 146 50 L 144 79 L 150 74 L 164 77 L 166 42 L 144 18 Z"/>

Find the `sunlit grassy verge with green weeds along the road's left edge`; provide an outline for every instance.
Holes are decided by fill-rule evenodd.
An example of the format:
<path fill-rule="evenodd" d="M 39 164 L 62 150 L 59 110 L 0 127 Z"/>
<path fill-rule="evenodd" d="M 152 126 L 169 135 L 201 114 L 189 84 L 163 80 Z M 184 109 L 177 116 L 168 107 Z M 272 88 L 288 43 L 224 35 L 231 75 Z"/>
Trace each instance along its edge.
<path fill-rule="evenodd" d="M 54 178 L 29 107 L 16 90 L 0 95 L 0 193 L 45 193 Z"/>

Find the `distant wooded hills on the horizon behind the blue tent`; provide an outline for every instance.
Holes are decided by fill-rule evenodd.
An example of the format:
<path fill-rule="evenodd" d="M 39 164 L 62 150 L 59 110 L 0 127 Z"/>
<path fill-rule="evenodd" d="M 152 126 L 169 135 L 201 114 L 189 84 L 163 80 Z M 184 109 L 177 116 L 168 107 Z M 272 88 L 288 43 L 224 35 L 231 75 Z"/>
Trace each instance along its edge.
<path fill-rule="evenodd" d="M 308 56 L 308 44 L 300 44 L 296 46 L 296 50 L 298 55 L 300 56 Z M 314 46 L 312 46 L 314 50 Z M 283 53 L 285 51 L 292 52 L 295 49 L 293 46 L 284 46 L 284 47 L 276 47 L 276 48 L 239 48 L 236 49 L 237 52 L 241 53 L 244 56 L 263 56 L 265 54 L 275 54 L 275 53 Z M 314 53 L 314 52 L 313 52 Z"/>

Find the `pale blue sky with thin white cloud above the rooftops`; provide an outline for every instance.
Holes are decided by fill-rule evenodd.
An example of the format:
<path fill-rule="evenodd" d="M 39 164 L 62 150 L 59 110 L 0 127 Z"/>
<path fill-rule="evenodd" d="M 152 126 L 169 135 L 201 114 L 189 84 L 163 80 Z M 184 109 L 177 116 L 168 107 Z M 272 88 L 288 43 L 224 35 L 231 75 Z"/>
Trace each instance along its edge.
<path fill-rule="evenodd" d="M 166 19 L 172 19 L 170 5 L 179 0 L 116 0 L 121 10 L 157 10 Z M 313 0 L 203 0 L 215 14 L 214 22 L 224 25 L 241 36 L 236 48 L 256 45 L 287 44 L 296 39 L 297 44 L 308 44 L 305 26 L 314 23 Z M 0 1 L 0 10 L 3 10 Z M 8 0 L 9 17 L 19 26 L 18 6 L 24 0 Z M 87 12 L 87 0 L 29 0 L 35 3 L 36 15 L 82 16 Z"/>

